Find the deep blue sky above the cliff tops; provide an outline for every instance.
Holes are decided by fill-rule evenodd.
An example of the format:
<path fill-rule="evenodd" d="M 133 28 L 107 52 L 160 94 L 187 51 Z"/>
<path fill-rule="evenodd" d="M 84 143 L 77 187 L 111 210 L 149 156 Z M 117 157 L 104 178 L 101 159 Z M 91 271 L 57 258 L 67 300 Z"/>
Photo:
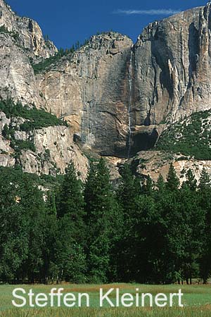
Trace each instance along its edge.
<path fill-rule="evenodd" d="M 19 15 L 37 20 L 56 46 L 70 47 L 96 32 L 114 30 L 136 38 L 143 27 L 169 12 L 203 6 L 204 0 L 6 0 Z M 170 10 L 168 12 L 168 10 Z"/>

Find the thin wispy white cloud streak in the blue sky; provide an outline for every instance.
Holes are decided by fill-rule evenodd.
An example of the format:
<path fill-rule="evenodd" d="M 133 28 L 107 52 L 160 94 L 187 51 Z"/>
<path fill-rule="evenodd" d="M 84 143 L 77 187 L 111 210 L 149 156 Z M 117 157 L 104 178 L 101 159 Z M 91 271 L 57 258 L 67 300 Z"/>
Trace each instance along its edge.
<path fill-rule="evenodd" d="M 151 10 L 116 10 L 113 11 L 114 14 L 140 14 L 140 15 L 172 15 L 175 13 L 179 13 L 181 10 L 174 10 L 174 9 L 151 9 Z"/>

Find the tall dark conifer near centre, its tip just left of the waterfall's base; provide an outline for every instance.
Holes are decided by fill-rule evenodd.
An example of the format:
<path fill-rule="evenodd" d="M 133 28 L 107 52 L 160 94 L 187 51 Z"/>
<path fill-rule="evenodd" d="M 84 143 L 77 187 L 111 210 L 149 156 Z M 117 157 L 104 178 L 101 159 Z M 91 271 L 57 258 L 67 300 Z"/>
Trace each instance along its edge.
<path fill-rule="evenodd" d="M 106 162 L 91 164 L 84 190 L 87 211 L 87 261 L 89 279 L 106 282 L 110 263 L 115 199 Z"/>

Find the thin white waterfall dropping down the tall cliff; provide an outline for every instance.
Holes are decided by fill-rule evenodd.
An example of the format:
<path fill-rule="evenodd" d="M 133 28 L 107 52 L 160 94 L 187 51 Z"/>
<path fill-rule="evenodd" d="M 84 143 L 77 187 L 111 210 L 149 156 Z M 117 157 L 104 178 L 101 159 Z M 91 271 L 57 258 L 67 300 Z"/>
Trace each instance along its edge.
<path fill-rule="evenodd" d="M 131 147 L 132 147 L 132 118 L 131 118 L 131 109 L 132 109 L 132 89 L 133 89 L 133 59 L 134 59 L 134 52 L 133 46 L 131 48 L 130 58 L 129 58 L 129 100 L 128 100 L 128 151 L 127 151 L 127 158 L 130 157 Z"/>

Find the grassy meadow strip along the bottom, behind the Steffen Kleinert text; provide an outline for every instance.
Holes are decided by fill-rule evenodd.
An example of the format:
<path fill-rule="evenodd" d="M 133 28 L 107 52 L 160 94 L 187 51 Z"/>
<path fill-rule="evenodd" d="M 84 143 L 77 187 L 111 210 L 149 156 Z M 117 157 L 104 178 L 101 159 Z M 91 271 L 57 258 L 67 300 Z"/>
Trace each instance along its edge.
<path fill-rule="evenodd" d="M 88 293 L 90 296 L 90 307 L 82 308 L 29 308 L 24 309 L 13 307 L 11 301 L 13 299 L 13 289 L 22 287 L 25 291 L 33 290 L 34 293 L 48 294 L 52 287 L 63 287 L 64 293 L 71 292 L 74 294 Z M 184 293 L 182 304 L 184 308 L 177 306 L 165 308 L 99 308 L 99 289 L 109 290 L 111 287 L 120 288 L 120 293 L 129 292 L 135 294 L 136 287 L 140 292 L 150 292 L 158 294 L 160 292 L 169 294 L 178 292 L 181 288 Z M 115 296 L 113 295 L 115 298 Z M 110 297 L 113 299 L 113 297 Z M 113 299 L 115 300 L 115 299 Z M 17 300 L 18 301 L 18 300 Z M 134 285 L 134 284 L 115 284 L 115 285 L 0 285 L 0 316 L 4 317 L 199 317 L 211 316 L 211 286 L 210 285 Z"/>

